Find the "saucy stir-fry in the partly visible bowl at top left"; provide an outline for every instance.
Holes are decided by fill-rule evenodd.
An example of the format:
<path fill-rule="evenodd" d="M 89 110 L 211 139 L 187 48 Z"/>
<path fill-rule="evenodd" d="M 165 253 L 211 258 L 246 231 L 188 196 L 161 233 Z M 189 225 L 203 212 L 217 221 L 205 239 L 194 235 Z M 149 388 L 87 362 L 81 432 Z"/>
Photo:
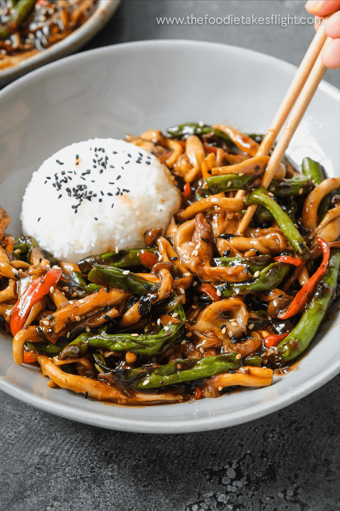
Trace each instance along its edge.
<path fill-rule="evenodd" d="M 61 41 L 92 16 L 97 0 L 0 0 L 0 70 Z"/>

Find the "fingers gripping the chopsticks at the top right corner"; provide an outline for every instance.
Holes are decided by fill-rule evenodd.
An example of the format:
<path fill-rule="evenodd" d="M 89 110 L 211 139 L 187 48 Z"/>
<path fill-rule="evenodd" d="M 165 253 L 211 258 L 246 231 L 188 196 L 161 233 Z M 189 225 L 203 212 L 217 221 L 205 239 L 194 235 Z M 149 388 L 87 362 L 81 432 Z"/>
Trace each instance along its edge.
<path fill-rule="evenodd" d="M 326 21 L 325 32 L 332 38 L 321 52 L 321 60 L 325 66 L 331 69 L 340 67 L 340 0 L 308 0 L 305 5 L 307 11 L 313 16 L 327 16 L 332 14 Z M 334 12 L 336 11 L 336 12 Z M 320 25 L 315 23 L 315 30 Z"/>

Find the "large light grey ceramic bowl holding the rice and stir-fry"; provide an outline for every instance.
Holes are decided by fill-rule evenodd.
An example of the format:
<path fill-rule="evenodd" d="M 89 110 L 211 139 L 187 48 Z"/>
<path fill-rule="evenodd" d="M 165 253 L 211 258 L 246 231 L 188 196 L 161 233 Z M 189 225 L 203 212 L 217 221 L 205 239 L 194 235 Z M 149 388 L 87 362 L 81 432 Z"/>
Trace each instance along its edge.
<path fill-rule="evenodd" d="M 26 183 L 61 147 L 185 121 L 228 123 L 263 133 L 295 71 L 286 62 L 241 48 L 162 40 L 84 52 L 17 80 L 0 92 L 0 204 L 13 218 L 8 231 L 20 234 Z M 290 145 L 299 164 L 311 156 L 322 161 L 329 175 L 338 175 L 338 105 L 339 91 L 322 82 Z M 276 378 L 271 387 L 195 403 L 131 408 L 49 388 L 38 368 L 13 362 L 11 338 L 1 333 L 0 388 L 37 408 L 105 428 L 144 433 L 222 428 L 287 406 L 335 376 L 338 324 L 334 313 L 297 370 Z"/>

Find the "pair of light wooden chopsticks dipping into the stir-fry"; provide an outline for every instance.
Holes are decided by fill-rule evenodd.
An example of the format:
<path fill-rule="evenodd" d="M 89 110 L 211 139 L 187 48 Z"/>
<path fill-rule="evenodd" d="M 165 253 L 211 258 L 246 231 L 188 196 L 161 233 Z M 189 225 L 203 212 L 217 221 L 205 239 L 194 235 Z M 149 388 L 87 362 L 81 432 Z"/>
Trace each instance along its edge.
<path fill-rule="evenodd" d="M 266 132 L 261 145 L 258 148 L 256 156 L 267 156 L 269 154 L 290 110 L 292 110 L 278 143 L 276 144 L 269 159 L 268 166 L 263 174 L 262 187 L 265 189 L 269 187 L 289 142 L 292 140 L 292 137 L 326 72 L 327 68 L 321 60 L 320 52 L 328 40 L 330 40 L 330 37 L 327 37 L 325 33 L 325 26 L 322 25 L 315 34 L 310 47 L 308 48 L 306 55 L 304 56 L 300 67 L 290 84 L 285 97 L 283 98 L 283 101 L 276 112 L 269 130 Z M 244 195 L 244 192 L 239 190 L 236 197 L 242 195 Z M 239 234 L 244 233 L 247 229 L 256 209 L 257 205 L 248 206 L 238 228 Z"/>

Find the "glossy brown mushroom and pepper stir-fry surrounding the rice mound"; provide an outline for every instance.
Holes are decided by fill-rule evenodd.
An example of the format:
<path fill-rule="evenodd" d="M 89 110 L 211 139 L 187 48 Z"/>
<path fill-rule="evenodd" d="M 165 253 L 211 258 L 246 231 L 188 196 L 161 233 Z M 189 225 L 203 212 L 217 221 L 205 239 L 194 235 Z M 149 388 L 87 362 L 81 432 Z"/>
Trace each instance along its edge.
<path fill-rule="evenodd" d="M 110 168 L 108 186 L 119 185 L 137 151 L 137 169 L 144 161 L 151 171 L 157 159 L 180 191 L 180 208 L 165 230 L 144 231 L 144 247 L 115 246 L 78 263 L 57 259 L 31 236 L 5 235 L 10 219 L 2 210 L 0 314 L 14 336 L 15 362 L 38 362 L 50 387 L 127 405 L 217 398 L 288 372 L 339 294 L 340 178 L 327 178 L 309 157 L 302 172 L 285 158 L 269 189 L 261 188 L 269 160 L 256 156 L 262 138 L 202 122 L 166 136 L 128 135 L 117 176 L 117 167 L 99 170 L 98 162 L 119 151 L 105 156 L 88 141 L 95 157 L 84 175 L 93 187 L 96 173 Z M 61 175 L 75 179 L 60 158 Z M 75 182 L 66 177 L 56 172 L 51 186 L 60 201 Z M 43 179 L 48 187 L 45 171 Z M 114 211 L 133 193 L 77 186 L 72 218 L 88 202 L 104 207 L 114 199 Z M 251 204 L 257 211 L 242 231 Z M 152 206 L 145 207 L 147 216 Z"/>

